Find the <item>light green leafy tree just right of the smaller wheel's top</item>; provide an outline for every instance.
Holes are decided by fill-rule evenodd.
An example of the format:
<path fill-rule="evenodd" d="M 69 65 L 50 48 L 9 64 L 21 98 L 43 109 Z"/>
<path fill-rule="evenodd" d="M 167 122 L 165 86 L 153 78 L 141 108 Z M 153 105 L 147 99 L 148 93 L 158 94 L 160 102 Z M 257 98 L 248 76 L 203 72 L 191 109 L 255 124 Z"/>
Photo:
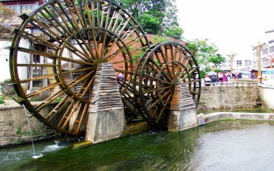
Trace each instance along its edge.
<path fill-rule="evenodd" d="M 220 66 L 220 64 L 225 61 L 225 57 L 217 53 L 219 49 L 217 49 L 216 45 L 208 39 L 191 40 L 187 43 L 187 47 L 192 55 L 194 55 L 195 60 L 203 72 L 211 70 L 210 64 L 214 64 L 216 68 L 216 66 Z"/>

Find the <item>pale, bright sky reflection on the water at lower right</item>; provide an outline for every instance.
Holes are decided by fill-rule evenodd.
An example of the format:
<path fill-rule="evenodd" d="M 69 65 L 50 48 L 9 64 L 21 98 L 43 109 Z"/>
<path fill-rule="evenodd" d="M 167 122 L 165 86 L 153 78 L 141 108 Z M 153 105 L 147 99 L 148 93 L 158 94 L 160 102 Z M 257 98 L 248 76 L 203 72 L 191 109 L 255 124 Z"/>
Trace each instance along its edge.
<path fill-rule="evenodd" d="M 248 120 L 206 125 L 190 170 L 274 170 L 273 126 Z"/>

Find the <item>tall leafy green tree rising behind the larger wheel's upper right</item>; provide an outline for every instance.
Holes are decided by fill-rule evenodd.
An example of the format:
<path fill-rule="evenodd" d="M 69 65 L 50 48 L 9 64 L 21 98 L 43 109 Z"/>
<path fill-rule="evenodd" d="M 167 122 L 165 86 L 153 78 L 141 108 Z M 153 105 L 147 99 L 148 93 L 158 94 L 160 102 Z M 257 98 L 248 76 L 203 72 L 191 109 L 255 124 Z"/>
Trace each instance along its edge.
<path fill-rule="evenodd" d="M 175 0 L 116 0 L 129 11 L 149 34 L 182 39 L 183 29 L 177 22 Z"/>

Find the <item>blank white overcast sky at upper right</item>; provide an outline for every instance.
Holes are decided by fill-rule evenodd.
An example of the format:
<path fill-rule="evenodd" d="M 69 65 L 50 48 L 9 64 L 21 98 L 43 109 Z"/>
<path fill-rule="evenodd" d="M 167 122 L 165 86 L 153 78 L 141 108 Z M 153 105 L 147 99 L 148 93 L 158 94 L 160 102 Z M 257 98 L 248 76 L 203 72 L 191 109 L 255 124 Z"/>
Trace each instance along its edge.
<path fill-rule="evenodd" d="M 266 41 L 274 29 L 273 0 L 176 0 L 184 38 L 210 39 L 226 57 L 252 57 L 251 45 Z"/>

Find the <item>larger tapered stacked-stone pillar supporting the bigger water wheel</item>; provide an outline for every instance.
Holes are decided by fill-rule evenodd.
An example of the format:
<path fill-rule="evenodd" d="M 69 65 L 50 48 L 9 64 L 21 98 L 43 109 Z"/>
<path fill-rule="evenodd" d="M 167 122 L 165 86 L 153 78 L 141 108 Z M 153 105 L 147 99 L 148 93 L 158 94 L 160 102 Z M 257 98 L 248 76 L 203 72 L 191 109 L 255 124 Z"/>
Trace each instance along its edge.
<path fill-rule="evenodd" d="M 126 127 L 123 101 L 113 64 L 97 66 L 88 112 L 86 141 L 93 144 L 120 137 Z"/>

